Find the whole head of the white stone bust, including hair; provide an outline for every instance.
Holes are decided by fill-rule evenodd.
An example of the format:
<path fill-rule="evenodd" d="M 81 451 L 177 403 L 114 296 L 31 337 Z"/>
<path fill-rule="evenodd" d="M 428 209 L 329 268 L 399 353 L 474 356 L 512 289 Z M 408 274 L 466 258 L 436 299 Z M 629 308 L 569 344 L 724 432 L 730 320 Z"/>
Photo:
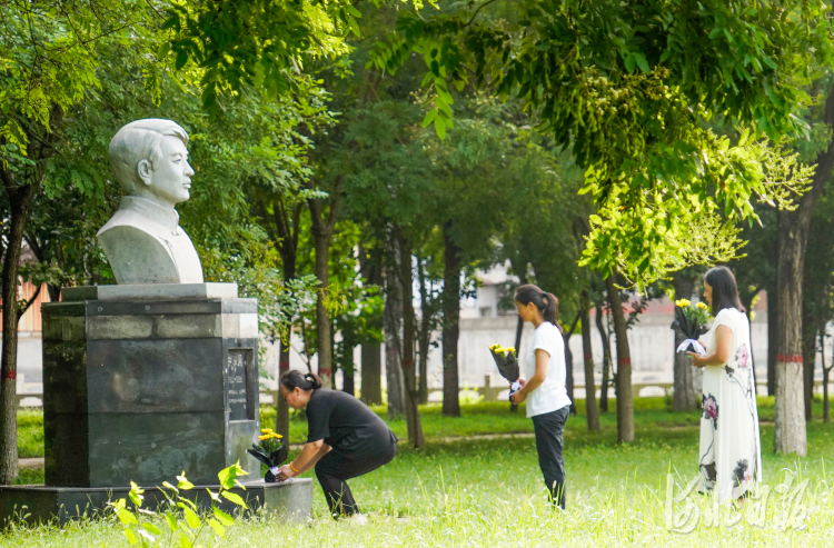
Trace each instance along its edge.
<path fill-rule="evenodd" d="M 190 197 L 187 145 L 188 133 L 171 120 L 136 120 L 110 141 L 110 167 L 126 195 L 172 208 Z"/>

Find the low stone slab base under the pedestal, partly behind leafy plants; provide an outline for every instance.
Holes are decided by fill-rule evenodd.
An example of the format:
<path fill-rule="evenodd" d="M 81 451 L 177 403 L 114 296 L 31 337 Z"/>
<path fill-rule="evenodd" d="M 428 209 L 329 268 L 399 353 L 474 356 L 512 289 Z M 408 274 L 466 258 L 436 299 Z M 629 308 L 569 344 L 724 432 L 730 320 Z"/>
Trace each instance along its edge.
<path fill-rule="evenodd" d="M 282 484 L 267 484 L 262 479 L 244 484 L 246 490 L 232 489 L 240 495 L 250 511 L 266 507 L 281 518 L 290 521 L 304 521 L 311 516 L 312 480 L 294 478 Z M 181 491 L 203 510 L 211 507 L 211 499 L 206 488 L 217 492 L 219 486 L 195 486 L 189 491 Z M 24 520 L 28 524 L 58 522 L 64 525 L 79 518 L 97 518 L 103 515 L 108 501 L 127 499 L 132 508 L 128 492 L 130 487 L 50 487 L 50 486 L 11 486 L 0 487 L 0 529 L 10 521 Z M 166 502 L 161 490 L 156 487 L 145 488 L 142 508 L 156 510 Z M 224 499 L 220 509 L 235 515 L 239 507 Z"/>

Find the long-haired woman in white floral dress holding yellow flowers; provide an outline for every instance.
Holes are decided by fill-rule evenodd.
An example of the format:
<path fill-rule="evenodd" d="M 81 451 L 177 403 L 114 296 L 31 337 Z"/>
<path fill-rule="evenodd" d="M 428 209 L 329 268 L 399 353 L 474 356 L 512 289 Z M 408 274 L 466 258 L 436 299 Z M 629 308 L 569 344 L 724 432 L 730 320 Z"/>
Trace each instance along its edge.
<path fill-rule="evenodd" d="M 693 365 L 704 368 L 698 490 L 717 489 L 724 502 L 748 497 L 762 481 L 749 321 L 728 268 L 706 272 L 704 298 L 715 318 L 705 336 L 706 356 L 689 352 Z"/>

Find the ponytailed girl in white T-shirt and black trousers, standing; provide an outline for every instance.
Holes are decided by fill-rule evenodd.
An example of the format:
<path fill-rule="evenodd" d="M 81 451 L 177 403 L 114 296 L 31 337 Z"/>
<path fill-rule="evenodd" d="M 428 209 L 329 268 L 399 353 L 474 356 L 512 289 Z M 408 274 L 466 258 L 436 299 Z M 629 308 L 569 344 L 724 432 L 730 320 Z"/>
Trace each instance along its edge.
<path fill-rule="evenodd" d="M 563 432 L 570 410 L 565 385 L 565 341 L 557 320 L 559 301 L 533 285 L 515 293 L 516 309 L 524 321 L 536 328 L 525 359 L 527 380 L 518 379 L 522 389 L 513 395 L 518 405 L 527 400 L 527 417 L 536 432 L 538 466 L 554 505 L 565 509 L 565 460 Z"/>

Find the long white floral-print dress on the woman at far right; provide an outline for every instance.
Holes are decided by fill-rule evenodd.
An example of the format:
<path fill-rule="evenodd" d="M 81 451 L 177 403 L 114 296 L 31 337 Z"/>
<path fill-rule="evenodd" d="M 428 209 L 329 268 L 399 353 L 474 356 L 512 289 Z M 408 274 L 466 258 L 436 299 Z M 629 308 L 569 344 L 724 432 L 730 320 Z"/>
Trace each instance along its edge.
<path fill-rule="evenodd" d="M 707 332 L 707 353 L 715 351 L 715 330 L 733 331 L 729 359 L 704 367 L 701 411 L 698 490 L 718 489 L 718 500 L 735 500 L 762 481 L 758 411 L 751 357 L 749 322 L 735 308 L 718 312 Z"/>

